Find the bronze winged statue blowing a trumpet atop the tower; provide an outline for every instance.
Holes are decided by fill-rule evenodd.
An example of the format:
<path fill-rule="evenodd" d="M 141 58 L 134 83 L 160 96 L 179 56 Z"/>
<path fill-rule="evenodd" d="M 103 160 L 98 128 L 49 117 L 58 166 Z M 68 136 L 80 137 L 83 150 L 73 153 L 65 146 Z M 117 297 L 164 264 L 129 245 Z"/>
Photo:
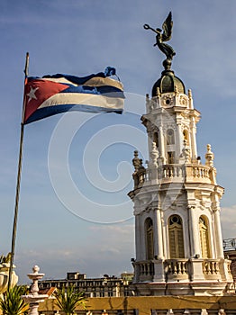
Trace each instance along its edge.
<path fill-rule="evenodd" d="M 143 27 L 145 30 L 151 30 L 157 33 L 157 36 L 156 36 L 157 42 L 154 44 L 154 46 L 158 46 L 160 51 L 162 51 L 167 56 L 167 59 L 172 60 L 173 56 L 176 55 L 176 52 L 171 46 L 163 42 L 163 41 L 168 41 L 171 39 L 171 33 L 172 33 L 172 27 L 173 27 L 171 12 L 168 14 L 168 17 L 166 18 L 165 22 L 162 24 L 162 30 L 159 28 L 154 30 L 153 28 L 150 27 L 149 24 L 144 24 Z"/>

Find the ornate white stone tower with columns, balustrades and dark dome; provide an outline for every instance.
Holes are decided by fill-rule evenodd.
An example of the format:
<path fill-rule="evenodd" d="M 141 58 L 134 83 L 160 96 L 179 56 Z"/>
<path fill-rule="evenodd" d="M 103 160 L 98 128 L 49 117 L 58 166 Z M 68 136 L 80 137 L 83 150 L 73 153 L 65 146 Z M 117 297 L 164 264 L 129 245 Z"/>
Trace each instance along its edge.
<path fill-rule="evenodd" d="M 148 29 L 148 28 L 147 28 Z M 223 188 L 216 183 L 213 152 L 197 156 L 193 97 L 170 69 L 147 95 L 149 157 L 132 160 L 137 295 L 211 295 L 231 292 L 230 261 L 224 259 L 220 220 Z"/>

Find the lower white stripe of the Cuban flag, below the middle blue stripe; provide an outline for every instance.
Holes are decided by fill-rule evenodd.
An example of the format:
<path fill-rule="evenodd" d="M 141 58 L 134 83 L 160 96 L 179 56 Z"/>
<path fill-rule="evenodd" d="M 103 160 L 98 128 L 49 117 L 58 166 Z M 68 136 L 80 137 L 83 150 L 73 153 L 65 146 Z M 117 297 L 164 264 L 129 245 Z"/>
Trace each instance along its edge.
<path fill-rule="evenodd" d="M 50 96 L 50 98 L 41 103 L 38 109 L 72 103 L 111 109 L 123 109 L 124 101 L 122 98 L 97 94 L 59 93 Z"/>

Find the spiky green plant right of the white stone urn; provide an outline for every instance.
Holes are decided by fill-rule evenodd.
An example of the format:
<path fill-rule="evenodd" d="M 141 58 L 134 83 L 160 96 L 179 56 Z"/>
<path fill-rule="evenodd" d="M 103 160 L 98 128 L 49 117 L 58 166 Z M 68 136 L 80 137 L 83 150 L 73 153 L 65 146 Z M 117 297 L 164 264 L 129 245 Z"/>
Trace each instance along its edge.
<path fill-rule="evenodd" d="M 79 304 L 86 309 L 85 293 L 75 291 L 74 285 L 68 285 L 67 288 L 63 285 L 62 289 L 54 293 L 54 296 L 60 311 L 64 311 L 66 315 L 74 314 Z"/>

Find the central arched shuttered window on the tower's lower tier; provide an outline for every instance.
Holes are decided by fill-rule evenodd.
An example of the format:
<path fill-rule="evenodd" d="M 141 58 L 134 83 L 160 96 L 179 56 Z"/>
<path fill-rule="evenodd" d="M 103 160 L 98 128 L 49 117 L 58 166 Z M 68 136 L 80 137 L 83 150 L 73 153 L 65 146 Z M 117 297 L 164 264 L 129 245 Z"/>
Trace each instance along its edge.
<path fill-rule="evenodd" d="M 178 215 L 172 215 L 168 219 L 168 238 L 170 258 L 184 258 L 183 225 Z"/>

